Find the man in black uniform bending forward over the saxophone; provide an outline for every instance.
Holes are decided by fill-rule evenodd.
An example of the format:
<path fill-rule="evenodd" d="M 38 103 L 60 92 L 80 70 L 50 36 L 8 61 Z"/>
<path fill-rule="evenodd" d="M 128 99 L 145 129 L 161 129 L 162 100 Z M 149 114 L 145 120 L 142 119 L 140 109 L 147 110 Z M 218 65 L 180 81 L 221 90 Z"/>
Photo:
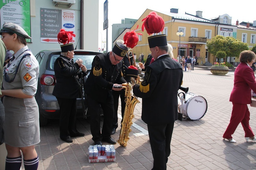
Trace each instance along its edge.
<path fill-rule="evenodd" d="M 112 132 L 114 106 L 112 90 L 120 91 L 126 83 L 121 76 L 123 57 L 128 49 L 120 42 L 116 42 L 112 51 L 107 54 L 96 55 L 92 62 L 92 72 L 85 83 L 85 94 L 87 95 L 88 111 L 91 113 L 91 133 L 95 145 L 102 145 L 102 141 L 115 144 L 110 135 Z M 114 82 L 118 84 L 114 84 Z M 100 106 L 103 109 L 104 122 L 100 133 Z"/>

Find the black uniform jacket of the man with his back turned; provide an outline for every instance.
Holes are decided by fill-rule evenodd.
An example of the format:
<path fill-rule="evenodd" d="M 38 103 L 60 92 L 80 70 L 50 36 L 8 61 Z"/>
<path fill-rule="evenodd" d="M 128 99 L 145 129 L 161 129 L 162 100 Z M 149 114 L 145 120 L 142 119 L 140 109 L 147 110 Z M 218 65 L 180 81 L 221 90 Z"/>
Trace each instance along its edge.
<path fill-rule="evenodd" d="M 142 98 L 142 120 L 145 123 L 172 123 L 177 120 L 177 94 L 182 79 L 180 64 L 168 54 L 146 67 L 144 81 L 133 87 L 134 95 Z"/>

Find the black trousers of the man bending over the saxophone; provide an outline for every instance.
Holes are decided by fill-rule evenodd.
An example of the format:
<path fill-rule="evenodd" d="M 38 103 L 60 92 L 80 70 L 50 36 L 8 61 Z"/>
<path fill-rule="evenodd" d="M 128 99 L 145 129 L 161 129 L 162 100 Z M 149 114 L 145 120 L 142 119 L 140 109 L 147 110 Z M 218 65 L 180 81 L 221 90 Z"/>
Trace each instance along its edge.
<path fill-rule="evenodd" d="M 87 95 L 88 112 L 90 112 L 90 127 L 92 133 L 92 140 L 94 142 L 102 141 L 102 139 L 108 139 L 111 136 L 114 106 L 113 96 L 111 95 L 106 102 L 98 102 Z M 103 109 L 103 126 L 100 133 L 100 106 Z"/>

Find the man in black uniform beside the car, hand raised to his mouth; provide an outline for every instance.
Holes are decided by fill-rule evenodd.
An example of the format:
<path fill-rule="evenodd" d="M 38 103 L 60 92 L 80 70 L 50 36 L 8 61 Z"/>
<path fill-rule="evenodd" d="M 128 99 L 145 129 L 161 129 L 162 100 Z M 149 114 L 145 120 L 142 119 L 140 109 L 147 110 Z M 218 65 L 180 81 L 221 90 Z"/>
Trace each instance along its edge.
<path fill-rule="evenodd" d="M 84 77 L 88 72 L 82 65 L 83 60 L 73 62 L 75 49 L 72 43 L 61 45 L 60 48 L 62 53 L 54 63 L 56 84 L 52 94 L 57 98 L 59 104 L 59 137 L 71 143 L 73 140 L 70 137 L 84 136 L 83 133 L 77 131 L 76 126 L 76 102 L 81 88 L 76 77 L 78 75 L 81 78 L 82 73 Z"/>

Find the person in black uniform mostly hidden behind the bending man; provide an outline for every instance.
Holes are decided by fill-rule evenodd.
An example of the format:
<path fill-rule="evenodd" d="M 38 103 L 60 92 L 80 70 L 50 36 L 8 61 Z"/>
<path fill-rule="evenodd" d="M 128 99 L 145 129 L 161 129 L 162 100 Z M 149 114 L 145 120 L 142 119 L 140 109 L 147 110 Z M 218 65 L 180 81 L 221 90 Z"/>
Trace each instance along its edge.
<path fill-rule="evenodd" d="M 130 62 L 129 62 L 129 57 L 127 55 L 125 55 L 123 57 L 123 61 L 122 61 L 122 67 L 121 67 L 121 72 L 123 74 L 123 78 L 125 79 L 125 81 L 127 83 L 131 83 L 131 77 L 127 76 L 127 71 L 128 71 L 128 67 L 130 66 Z M 121 99 L 121 114 L 122 114 L 122 121 L 123 121 L 123 115 L 124 115 L 124 110 L 125 110 L 125 89 L 122 89 L 121 91 L 112 91 L 112 95 L 113 95 L 113 99 L 114 99 L 114 118 L 113 118 L 113 129 L 111 132 L 111 135 L 113 135 L 118 127 L 118 116 L 117 116 L 117 112 L 118 112 L 118 102 L 119 102 L 119 96 Z M 121 121 L 121 122 L 122 122 Z"/>

